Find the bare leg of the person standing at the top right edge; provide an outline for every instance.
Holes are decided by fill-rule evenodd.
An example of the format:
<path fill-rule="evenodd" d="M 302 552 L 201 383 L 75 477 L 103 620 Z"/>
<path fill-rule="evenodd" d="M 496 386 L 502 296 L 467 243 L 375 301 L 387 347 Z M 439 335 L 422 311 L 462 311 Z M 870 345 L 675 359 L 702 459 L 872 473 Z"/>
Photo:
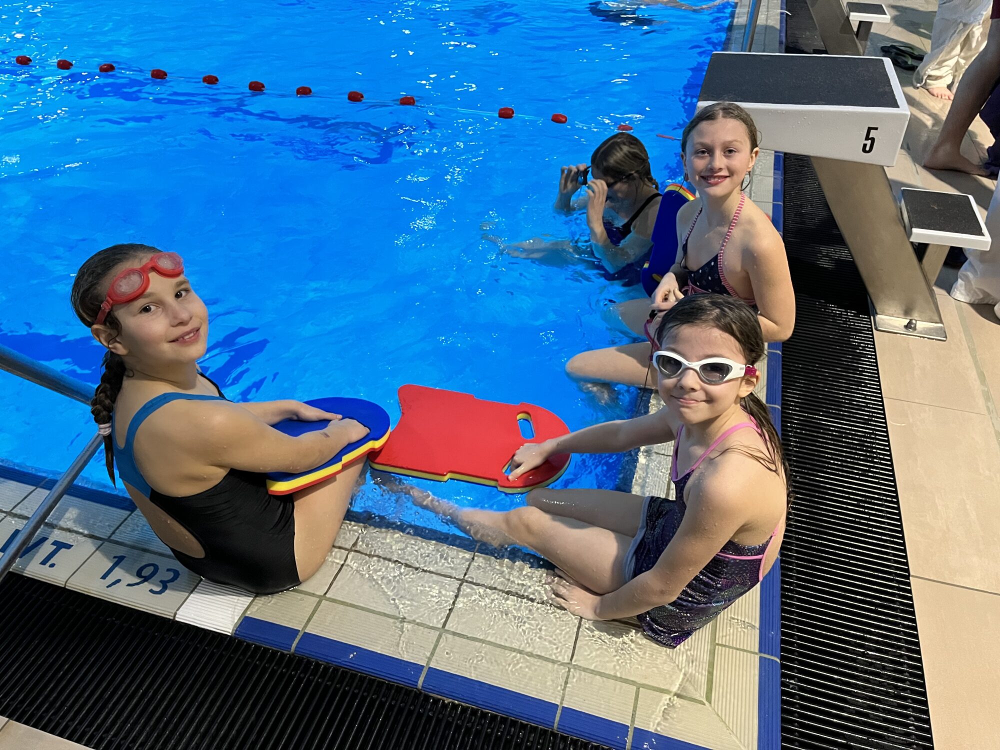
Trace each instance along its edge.
<path fill-rule="evenodd" d="M 990 18 L 1000 14 L 1000 0 L 994 0 Z M 962 139 L 973 119 L 982 109 L 990 92 L 1000 77 L 1000 24 L 990 26 L 986 46 L 972 61 L 955 92 L 948 116 L 941 126 L 937 142 L 931 147 L 924 166 L 928 169 L 951 169 L 957 172 L 986 175 L 986 169 L 974 164 L 959 153 Z"/>

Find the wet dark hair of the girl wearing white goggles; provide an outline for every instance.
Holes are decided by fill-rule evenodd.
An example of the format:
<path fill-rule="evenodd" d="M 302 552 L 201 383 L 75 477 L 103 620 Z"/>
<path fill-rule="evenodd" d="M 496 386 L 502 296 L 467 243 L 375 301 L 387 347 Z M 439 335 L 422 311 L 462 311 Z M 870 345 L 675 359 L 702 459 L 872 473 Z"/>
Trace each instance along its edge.
<path fill-rule="evenodd" d="M 760 322 L 753 308 L 741 300 L 723 294 L 690 294 L 682 297 L 663 315 L 656 329 L 656 340 L 663 346 L 663 340 L 681 326 L 703 326 L 714 328 L 732 336 L 743 350 L 743 356 L 748 364 L 759 362 L 764 354 L 764 336 L 760 330 Z M 740 401 L 740 406 L 749 414 L 764 433 L 767 455 L 761 456 L 755 451 L 740 450 L 759 462 L 770 471 L 778 472 L 785 480 L 787 502 L 792 501 L 791 472 L 785 452 L 781 447 L 781 438 L 771 421 L 767 406 L 756 393 L 749 393 Z"/>

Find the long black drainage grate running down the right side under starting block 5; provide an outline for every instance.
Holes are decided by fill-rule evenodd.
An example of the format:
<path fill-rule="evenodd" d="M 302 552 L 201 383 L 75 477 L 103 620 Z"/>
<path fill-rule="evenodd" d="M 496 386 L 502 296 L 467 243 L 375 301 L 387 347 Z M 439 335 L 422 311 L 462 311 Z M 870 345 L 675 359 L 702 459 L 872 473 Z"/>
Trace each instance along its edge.
<path fill-rule="evenodd" d="M 785 196 L 798 314 L 782 348 L 796 494 L 781 547 L 783 745 L 932 747 L 864 284 L 808 158 L 786 155 Z"/>

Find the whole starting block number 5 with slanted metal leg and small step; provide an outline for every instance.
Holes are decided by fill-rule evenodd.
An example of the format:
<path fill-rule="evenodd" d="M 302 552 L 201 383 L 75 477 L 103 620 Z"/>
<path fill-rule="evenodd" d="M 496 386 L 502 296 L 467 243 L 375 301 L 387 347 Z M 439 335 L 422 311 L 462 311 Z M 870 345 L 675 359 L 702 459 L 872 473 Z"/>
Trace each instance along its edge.
<path fill-rule="evenodd" d="M 980 249 L 990 240 L 970 196 L 904 191 L 901 212 L 884 167 L 896 162 L 910 110 L 892 63 L 716 52 L 698 108 L 719 101 L 736 102 L 753 116 L 763 148 L 812 157 L 868 289 L 875 327 L 947 338 L 932 289 L 944 256 L 950 245 Z M 911 242 L 929 243 L 923 261 Z"/>

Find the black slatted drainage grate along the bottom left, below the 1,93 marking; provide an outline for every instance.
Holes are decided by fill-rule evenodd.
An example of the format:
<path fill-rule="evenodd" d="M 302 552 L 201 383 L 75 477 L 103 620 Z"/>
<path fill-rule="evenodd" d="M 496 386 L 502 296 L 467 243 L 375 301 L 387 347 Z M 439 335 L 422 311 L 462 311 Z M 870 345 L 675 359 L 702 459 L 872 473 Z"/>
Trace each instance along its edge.
<path fill-rule="evenodd" d="M 16 574 L 0 715 L 97 750 L 602 747 Z"/>

